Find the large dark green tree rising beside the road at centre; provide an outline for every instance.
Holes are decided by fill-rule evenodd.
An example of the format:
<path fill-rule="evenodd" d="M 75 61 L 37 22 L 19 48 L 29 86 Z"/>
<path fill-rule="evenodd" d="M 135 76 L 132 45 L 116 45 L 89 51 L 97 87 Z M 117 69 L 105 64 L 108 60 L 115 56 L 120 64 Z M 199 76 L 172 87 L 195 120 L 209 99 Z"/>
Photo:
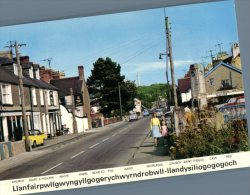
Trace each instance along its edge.
<path fill-rule="evenodd" d="M 87 79 L 87 85 L 91 96 L 91 104 L 99 105 L 104 115 L 110 115 L 120 108 L 118 84 L 121 86 L 121 97 L 123 109 L 126 110 L 133 95 L 136 94 L 136 87 L 133 82 L 125 81 L 121 75 L 121 66 L 110 58 L 99 58 L 91 70 Z"/>

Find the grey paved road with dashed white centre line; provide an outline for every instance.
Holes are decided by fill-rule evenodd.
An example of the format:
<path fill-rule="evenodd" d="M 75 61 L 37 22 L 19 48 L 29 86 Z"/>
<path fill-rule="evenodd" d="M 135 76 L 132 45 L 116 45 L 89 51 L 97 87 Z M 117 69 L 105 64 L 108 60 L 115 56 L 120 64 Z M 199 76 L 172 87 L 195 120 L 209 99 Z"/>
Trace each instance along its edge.
<path fill-rule="evenodd" d="M 0 173 L 0 180 L 125 166 L 148 129 L 143 118 L 44 149 L 46 155 Z"/>

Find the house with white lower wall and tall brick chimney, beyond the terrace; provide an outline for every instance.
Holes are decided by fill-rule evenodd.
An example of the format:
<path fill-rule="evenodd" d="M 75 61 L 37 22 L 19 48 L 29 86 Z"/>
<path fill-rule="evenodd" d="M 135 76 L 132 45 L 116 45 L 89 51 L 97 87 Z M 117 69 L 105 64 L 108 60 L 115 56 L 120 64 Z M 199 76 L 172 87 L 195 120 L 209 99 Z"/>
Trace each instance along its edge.
<path fill-rule="evenodd" d="M 91 107 L 88 88 L 84 78 L 84 67 L 78 66 L 78 76 L 50 80 L 50 84 L 58 88 L 62 119 L 73 133 L 72 126 L 72 96 L 74 96 L 75 116 L 78 132 L 91 129 Z M 69 117 L 69 113 L 70 116 Z M 67 120 L 68 119 L 68 120 Z"/>

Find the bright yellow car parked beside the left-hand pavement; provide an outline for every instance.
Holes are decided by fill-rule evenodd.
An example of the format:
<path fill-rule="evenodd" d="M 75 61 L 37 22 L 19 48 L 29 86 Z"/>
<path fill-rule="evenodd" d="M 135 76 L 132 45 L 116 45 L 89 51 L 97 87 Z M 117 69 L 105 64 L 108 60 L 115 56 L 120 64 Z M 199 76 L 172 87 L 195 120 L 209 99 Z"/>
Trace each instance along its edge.
<path fill-rule="evenodd" d="M 38 145 L 44 145 L 44 141 L 47 139 L 47 135 L 42 133 L 40 130 L 29 130 L 29 140 L 33 148 Z M 25 136 L 23 136 L 23 140 L 25 140 Z"/>

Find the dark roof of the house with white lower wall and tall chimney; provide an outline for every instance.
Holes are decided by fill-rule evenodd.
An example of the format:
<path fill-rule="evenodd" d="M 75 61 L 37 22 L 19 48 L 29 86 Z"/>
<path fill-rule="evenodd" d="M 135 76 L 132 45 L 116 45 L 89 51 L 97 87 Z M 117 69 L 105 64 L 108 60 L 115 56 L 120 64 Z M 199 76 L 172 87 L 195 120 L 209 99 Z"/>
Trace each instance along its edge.
<path fill-rule="evenodd" d="M 58 93 L 60 97 L 65 97 L 70 95 L 70 88 L 73 89 L 74 94 L 82 93 L 82 80 L 79 77 L 69 77 L 58 80 L 51 80 L 50 84 L 58 88 Z"/>

